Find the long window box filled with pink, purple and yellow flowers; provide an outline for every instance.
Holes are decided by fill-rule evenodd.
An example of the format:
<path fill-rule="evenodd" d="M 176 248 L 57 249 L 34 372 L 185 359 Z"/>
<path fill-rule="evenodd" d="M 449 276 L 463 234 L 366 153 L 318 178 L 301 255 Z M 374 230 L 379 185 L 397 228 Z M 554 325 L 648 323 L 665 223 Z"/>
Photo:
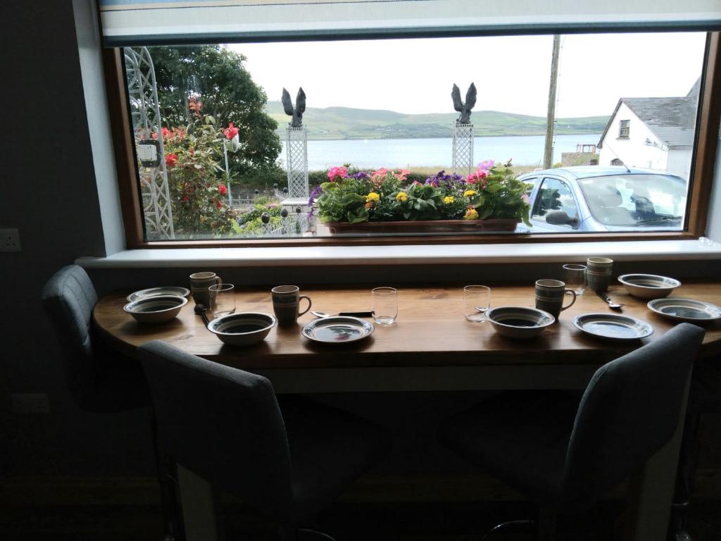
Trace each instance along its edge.
<path fill-rule="evenodd" d="M 512 232 L 528 222 L 528 185 L 516 180 L 510 162 L 478 164 L 471 175 L 438 172 L 408 182 L 408 171 L 376 170 L 350 175 L 332 167 L 315 192 L 319 221 L 333 233 Z"/>

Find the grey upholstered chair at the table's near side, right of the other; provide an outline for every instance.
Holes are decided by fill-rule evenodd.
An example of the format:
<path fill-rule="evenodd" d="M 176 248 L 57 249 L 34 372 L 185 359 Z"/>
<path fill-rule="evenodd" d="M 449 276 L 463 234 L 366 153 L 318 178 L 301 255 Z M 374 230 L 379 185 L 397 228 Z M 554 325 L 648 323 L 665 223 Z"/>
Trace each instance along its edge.
<path fill-rule="evenodd" d="M 683 323 L 601 366 L 578 402 L 507 392 L 446 420 L 439 439 L 554 516 L 588 509 L 673 436 L 704 330 Z"/>

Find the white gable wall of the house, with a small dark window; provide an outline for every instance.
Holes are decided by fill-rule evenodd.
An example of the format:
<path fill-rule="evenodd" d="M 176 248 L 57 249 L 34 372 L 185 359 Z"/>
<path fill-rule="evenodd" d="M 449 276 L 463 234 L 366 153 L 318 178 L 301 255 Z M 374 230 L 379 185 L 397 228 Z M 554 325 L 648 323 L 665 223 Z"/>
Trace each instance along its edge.
<path fill-rule="evenodd" d="M 627 139 L 619 139 L 621 120 L 631 121 Z M 658 146 L 644 144 L 646 139 L 655 142 Z M 621 159 L 627 167 L 645 167 L 665 171 L 668 166 L 668 148 L 625 103 L 622 103 L 619 110 L 616 111 L 616 115 L 611 120 L 611 127 L 606 133 L 606 137 L 603 138 L 603 148 L 599 151 L 598 164 L 610 165 L 615 158 Z M 688 174 L 686 178 L 688 178 Z"/>

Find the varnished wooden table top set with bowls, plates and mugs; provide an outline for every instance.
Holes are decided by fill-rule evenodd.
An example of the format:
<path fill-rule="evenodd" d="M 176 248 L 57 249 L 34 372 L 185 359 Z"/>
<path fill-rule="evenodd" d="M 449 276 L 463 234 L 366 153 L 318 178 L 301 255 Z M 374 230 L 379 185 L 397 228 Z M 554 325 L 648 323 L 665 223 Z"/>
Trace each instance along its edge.
<path fill-rule="evenodd" d="M 490 284 L 491 305 L 534 306 L 534 286 Z M 337 313 L 371 309 L 371 288 L 301 289 L 309 295 L 313 308 Z M 559 321 L 532 340 L 518 342 L 497 335 L 489 322 L 468 322 L 461 314 L 461 286 L 405 287 L 398 291 L 398 319 L 381 327 L 358 343 L 317 344 L 301 337 L 303 325 L 314 316 L 298 318 L 295 327 L 275 327 L 261 343 L 248 348 L 225 346 L 205 329 L 195 315 L 193 299 L 183 307 L 177 319 L 160 325 L 143 325 L 123 312 L 130 291 L 107 295 L 94 309 L 94 322 L 113 347 L 133 355 L 137 346 L 149 340 L 165 340 L 198 356 L 244 369 L 389 367 L 389 366 L 489 366 L 544 364 L 603 364 L 617 356 L 658 339 L 674 322 L 651 312 L 646 302 L 629 296 L 622 286 L 614 285 L 609 295 L 626 306 L 623 314 L 653 325 L 654 333 L 632 343 L 613 343 L 585 335 L 572 325 L 576 315 L 588 312 L 612 312 L 606 304 L 587 291 L 575 304 L 561 312 Z M 721 304 L 721 283 L 695 281 L 684 283 L 674 295 Z M 567 302 L 567 299 L 566 301 Z M 241 288 L 236 293 L 239 312 L 273 314 L 270 289 Z M 702 354 L 721 352 L 721 324 L 707 329 Z"/>

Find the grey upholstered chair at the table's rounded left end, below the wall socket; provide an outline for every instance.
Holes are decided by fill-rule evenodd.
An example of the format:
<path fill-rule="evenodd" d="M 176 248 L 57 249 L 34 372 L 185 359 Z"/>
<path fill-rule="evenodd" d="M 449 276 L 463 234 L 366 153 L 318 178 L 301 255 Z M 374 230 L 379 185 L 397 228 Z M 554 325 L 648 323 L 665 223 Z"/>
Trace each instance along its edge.
<path fill-rule="evenodd" d="M 157 452 L 150 393 L 142 366 L 135 359 L 105 348 L 93 332 L 92 310 L 97 293 L 83 268 L 61 268 L 45 284 L 42 301 L 60 341 L 66 383 L 75 403 L 90 413 L 147 409 L 161 487 L 164 535 L 166 539 L 180 537 L 182 533 L 174 528 L 178 522 L 174 486 L 169 480 L 167 461 Z"/>

